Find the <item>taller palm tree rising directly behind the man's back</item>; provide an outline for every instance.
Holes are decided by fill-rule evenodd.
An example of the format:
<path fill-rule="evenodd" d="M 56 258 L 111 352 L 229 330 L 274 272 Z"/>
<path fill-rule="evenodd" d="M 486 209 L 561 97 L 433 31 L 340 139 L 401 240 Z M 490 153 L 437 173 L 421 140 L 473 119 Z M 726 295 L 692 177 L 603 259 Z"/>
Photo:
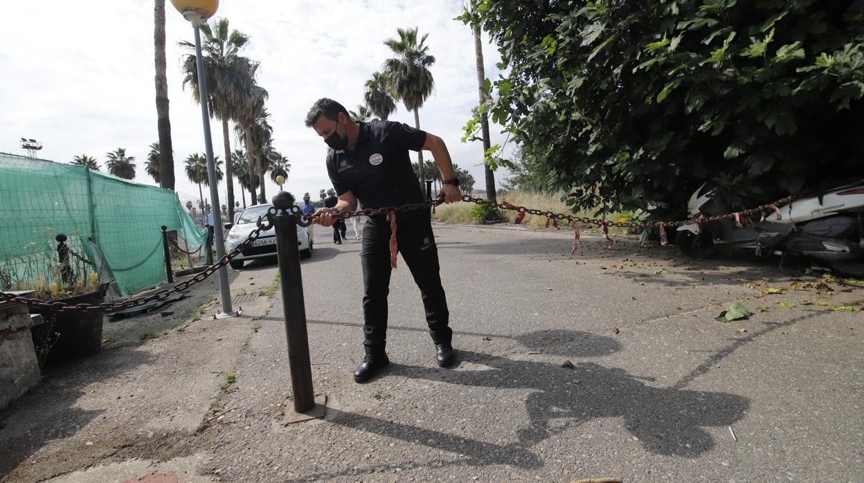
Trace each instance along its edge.
<path fill-rule="evenodd" d="M 423 102 L 435 88 L 435 80 L 429 67 L 435 64 L 435 57 L 427 54 L 429 47 L 424 45 L 426 37 L 417 41 L 417 28 L 397 29 L 398 39 L 387 39 L 384 45 L 389 47 L 396 57 L 384 61 L 384 72 L 388 79 L 388 91 L 393 98 L 401 100 L 405 109 L 414 111 L 414 124 L 420 129 L 419 110 Z M 417 151 L 417 169 L 420 186 L 423 186 L 423 152 Z"/>

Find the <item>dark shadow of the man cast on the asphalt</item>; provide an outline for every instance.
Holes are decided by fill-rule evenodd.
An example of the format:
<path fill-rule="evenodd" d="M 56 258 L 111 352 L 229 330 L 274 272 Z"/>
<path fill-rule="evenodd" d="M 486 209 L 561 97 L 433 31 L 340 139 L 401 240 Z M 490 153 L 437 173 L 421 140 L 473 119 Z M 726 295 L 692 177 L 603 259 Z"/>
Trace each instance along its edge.
<path fill-rule="evenodd" d="M 543 331 L 518 339 L 529 347 L 537 347 L 545 340 L 545 353 L 574 359 L 619 350 L 618 342 L 610 337 L 580 331 Z M 462 367 L 454 371 L 395 365 L 390 373 L 450 384 L 536 390 L 525 400 L 529 425 L 516 431 L 518 446 L 523 450 L 591 419 L 619 417 L 651 452 L 696 457 L 715 445 L 704 428 L 730 425 L 749 406 L 746 397 L 656 387 L 645 384 L 653 378 L 639 378 L 595 362 L 575 362 L 565 367 L 464 350 L 459 351 L 459 358 Z M 466 363 L 486 367 L 466 370 Z"/>

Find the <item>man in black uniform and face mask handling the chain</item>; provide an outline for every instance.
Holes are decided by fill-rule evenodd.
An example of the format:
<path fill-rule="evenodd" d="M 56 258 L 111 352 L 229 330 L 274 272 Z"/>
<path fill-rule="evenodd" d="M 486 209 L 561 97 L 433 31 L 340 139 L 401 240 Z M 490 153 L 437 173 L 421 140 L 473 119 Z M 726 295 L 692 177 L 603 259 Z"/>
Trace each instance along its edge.
<path fill-rule="evenodd" d="M 318 209 L 321 215 L 315 220 L 323 226 L 332 226 L 334 214 L 340 211 L 354 211 L 358 200 L 364 208 L 421 203 L 424 197 L 411 167 L 409 149 L 432 151 L 444 180 L 439 196 L 447 203 L 461 200 L 447 146 L 434 134 L 391 121 L 355 123 L 345 107 L 326 98 L 315 101 L 306 116 L 306 126 L 313 128 L 330 147 L 327 173 L 339 197 L 335 207 Z M 447 297 L 441 284 L 430 216 L 429 210 L 398 213 L 397 245 L 420 288 L 438 365 L 449 367 L 454 362 L 453 331 L 448 327 Z M 359 383 L 390 364 L 384 352 L 391 275 L 390 237 L 390 223 L 384 215 L 368 217 L 360 251 L 365 287 L 365 358 L 354 372 L 354 380 Z"/>

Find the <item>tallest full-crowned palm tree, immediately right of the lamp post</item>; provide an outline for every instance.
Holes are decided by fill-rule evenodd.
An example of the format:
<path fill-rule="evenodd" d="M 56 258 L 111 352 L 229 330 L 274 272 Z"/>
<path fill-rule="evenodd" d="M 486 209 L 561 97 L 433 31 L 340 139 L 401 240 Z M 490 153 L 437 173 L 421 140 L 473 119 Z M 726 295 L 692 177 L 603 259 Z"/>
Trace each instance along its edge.
<path fill-rule="evenodd" d="M 226 159 L 231 158 L 231 141 L 228 121 L 237 120 L 238 111 L 243 108 L 243 99 L 247 92 L 254 90 L 257 64 L 239 54 L 249 42 L 249 35 L 238 30 L 230 30 L 228 19 L 214 20 L 213 25 L 200 26 L 204 41 L 201 51 L 204 54 L 204 72 L 206 77 L 207 105 L 210 115 L 222 122 L 223 148 Z M 193 43 L 181 41 L 182 47 L 194 53 Z M 253 67 L 254 66 L 254 67 Z M 183 86 L 192 86 L 195 100 L 200 102 L 198 70 L 195 55 L 189 54 L 183 61 Z M 228 197 L 228 218 L 234 216 L 234 171 L 232 163 L 226 164 L 226 182 Z"/>

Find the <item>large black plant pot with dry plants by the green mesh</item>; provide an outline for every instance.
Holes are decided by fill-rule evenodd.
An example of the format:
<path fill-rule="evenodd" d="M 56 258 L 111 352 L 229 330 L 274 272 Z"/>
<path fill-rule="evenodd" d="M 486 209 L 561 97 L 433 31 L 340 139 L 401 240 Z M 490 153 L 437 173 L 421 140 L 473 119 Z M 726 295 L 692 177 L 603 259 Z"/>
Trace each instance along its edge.
<path fill-rule="evenodd" d="M 68 305 L 86 303 L 98 305 L 105 302 L 109 283 L 102 283 L 98 289 L 86 294 L 68 296 L 51 302 Z M 40 362 L 54 364 L 68 359 L 86 357 L 98 353 L 102 348 L 102 323 L 105 313 L 101 311 L 54 311 L 33 308 L 34 314 L 41 314 L 45 323 L 33 327 L 33 345 L 40 356 Z"/>

